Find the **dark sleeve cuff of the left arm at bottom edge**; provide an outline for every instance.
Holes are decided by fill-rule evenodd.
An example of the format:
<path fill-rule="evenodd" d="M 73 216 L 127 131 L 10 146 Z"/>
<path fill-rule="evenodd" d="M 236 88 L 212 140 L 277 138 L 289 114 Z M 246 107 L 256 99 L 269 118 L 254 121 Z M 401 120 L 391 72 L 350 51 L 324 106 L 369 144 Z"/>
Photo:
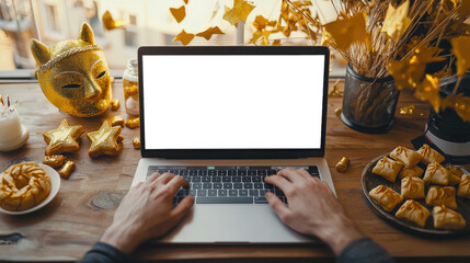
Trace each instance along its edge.
<path fill-rule="evenodd" d="M 129 258 L 111 244 L 96 242 L 77 263 L 128 263 Z"/>

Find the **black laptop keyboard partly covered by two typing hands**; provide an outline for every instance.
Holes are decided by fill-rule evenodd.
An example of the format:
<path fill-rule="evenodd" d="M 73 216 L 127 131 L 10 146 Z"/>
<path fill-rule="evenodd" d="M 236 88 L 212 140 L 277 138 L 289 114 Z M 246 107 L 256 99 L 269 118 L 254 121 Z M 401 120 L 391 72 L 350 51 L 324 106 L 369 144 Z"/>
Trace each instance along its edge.
<path fill-rule="evenodd" d="M 186 195 L 195 197 L 196 204 L 267 204 L 266 192 L 276 194 L 284 203 L 287 199 L 276 186 L 264 182 L 266 175 L 276 174 L 287 167 L 158 167 L 150 165 L 147 179 L 154 172 L 171 172 L 190 182 L 188 188 L 180 188 L 173 198 L 177 205 Z M 320 176 L 317 167 L 291 167 L 306 169 L 312 176 Z"/>

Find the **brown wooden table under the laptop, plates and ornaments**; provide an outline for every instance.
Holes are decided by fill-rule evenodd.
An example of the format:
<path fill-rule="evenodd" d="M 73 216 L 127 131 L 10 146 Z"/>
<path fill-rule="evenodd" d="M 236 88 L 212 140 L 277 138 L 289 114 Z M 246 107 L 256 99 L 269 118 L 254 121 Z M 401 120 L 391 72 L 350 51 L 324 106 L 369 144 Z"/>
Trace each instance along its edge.
<path fill-rule="evenodd" d="M 332 84 L 330 85 L 332 87 Z M 41 162 L 46 144 L 42 134 L 56 128 L 61 119 L 83 125 L 87 132 L 96 130 L 103 118 L 122 115 L 108 111 L 95 118 L 76 118 L 60 113 L 43 95 L 37 83 L 2 83 L 1 94 L 18 99 L 22 122 L 30 129 L 27 144 L 13 152 L 0 153 L 0 169 L 22 161 Z M 121 81 L 114 83 L 114 98 L 123 101 Z M 364 167 L 380 153 L 398 145 L 412 147 L 410 140 L 424 130 L 428 106 L 402 92 L 398 108 L 415 104 L 425 116 L 405 116 L 397 113 L 392 130 L 382 135 L 360 134 L 347 128 L 334 114 L 341 98 L 329 98 L 326 153 L 337 196 L 348 216 L 360 231 L 383 245 L 397 261 L 451 262 L 470 261 L 470 237 L 448 240 L 419 238 L 389 226 L 367 206 L 360 192 Z M 399 111 L 398 111 L 399 112 Z M 0 215 L 0 235 L 20 233 L 18 241 L 0 239 L 0 260 L 12 261 L 74 261 L 96 242 L 111 224 L 115 206 L 133 181 L 140 151 L 131 140 L 139 129 L 123 129 L 124 150 L 115 158 L 90 159 L 90 142 L 82 137 L 81 148 L 68 158 L 77 170 L 62 180 L 56 198 L 43 209 L 26 216 Z M 346 156 L 352 165 L 346 173 L 337 173 L 335 163 Z M 20 237 L 20 236 L 16 236 Z M 196 262 L 331 262 L 334 255 L 324 245 L 145 245 L 133 255 L 142 261 L 195 260 Z M 427 259 L 431 256 L 429 259 Z M 263 260 L 262 260 L 263 259 Z M 314 259 L 314 261 L 313 261 Z"/>

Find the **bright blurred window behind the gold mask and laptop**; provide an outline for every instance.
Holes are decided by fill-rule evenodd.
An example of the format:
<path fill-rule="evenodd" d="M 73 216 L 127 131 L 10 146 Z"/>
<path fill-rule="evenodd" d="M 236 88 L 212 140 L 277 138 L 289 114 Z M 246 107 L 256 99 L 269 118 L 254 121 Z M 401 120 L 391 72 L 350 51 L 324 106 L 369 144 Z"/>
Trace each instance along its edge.
<path fill-rule="evenodd" d="M 179 24 L 169 9 L 184 4 L 181 0 L 0 0 L 0 78 L 21 76 L 21 72 L 32 77 L 36 62 L 30 50 L 31 39 L 41 39 L 51 47 L 60 41 L 77 38 L 83 22 L 91 25 L 110 68 L 117 72 L 125 69 L 126 61 L 136 56 L 139 46 L 181 45 L 173 39 L 183 28 L 197 33 L 217 25 L 225 35 L 214 35 L 210 41 L 195 37 L 191 45 L 234 45 L 236 28 L 222 20 L 225 5 L 230 5 L 231 1 L 191 0 L 186 5 L 186 19 Z M 263 14 L 274 19 L 283 0 L 252 1 L 256 9 L 244 27 L 245 43 L 253 32 L 254 18 Z M 102 15 L 106 10 L 114 19 L 128 20 L 129 24 L 105 31 Z M 211 19 L 215 10 L 218 10 L 217 15 Z"/>

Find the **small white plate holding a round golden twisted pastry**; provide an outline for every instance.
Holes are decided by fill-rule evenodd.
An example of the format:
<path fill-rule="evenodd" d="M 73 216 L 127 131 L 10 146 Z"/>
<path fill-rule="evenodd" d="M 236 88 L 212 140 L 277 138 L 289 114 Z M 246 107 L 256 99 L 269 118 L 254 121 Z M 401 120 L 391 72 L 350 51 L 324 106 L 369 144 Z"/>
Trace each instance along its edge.
<path fill-rule="evenodd" d="M 41 209 L 60 188 L 57 171 L 42 163 L 12 165 L 0 178 L 5 184 L 0 192 L 0 213 L 8 215 L 25 215 Z"/>

